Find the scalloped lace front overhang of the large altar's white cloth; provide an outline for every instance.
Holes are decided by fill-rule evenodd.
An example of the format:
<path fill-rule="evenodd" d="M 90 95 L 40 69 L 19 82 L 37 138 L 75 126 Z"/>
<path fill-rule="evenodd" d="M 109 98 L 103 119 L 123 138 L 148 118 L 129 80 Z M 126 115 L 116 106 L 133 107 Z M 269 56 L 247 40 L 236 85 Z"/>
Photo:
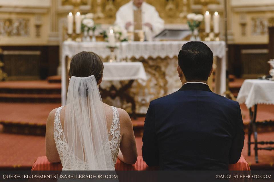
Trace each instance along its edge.
<path fill-rule="evenodd" d="M 115 53 L 118 59 L 135 57 L 136 59 L 144 57 L 174 57 L 178 56 L 181 47 L 188 41 L 153 41 L 153 42 L 118 42 Z M 210 41 L 204 42 L 213 52 L 214 56 L 219 58 L 225 57 L 225 42 Z M 106 58 L 110 55 L 110 50 L 107 48 L 108 42 L 74 42 L 65 41 L 62 46 L 62 59 L 66 56 L 72 57 L 81 51 L 92 51 Z"/>

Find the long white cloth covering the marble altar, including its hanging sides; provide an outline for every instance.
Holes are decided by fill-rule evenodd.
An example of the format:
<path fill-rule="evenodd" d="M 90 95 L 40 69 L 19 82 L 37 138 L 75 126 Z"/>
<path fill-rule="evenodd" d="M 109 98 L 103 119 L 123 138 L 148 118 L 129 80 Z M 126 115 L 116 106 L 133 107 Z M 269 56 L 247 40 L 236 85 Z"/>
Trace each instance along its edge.
<path fill-rule="evenodd" d="M 181 47 L 188 41 L 154 41 L 154 42 L 119 42 L 116 44 L 118 47 L 116 51 L 117 59 L 148 57 L 156 58 L 173 58 L 178 57 Z M 219 59 L 216 62 L 216 75 L 215 75 L 215 93 L 222 95 L 225 88 L 225 72 L 226 72 L 226 51 L 225 42 L 223 41 L 210 41 L 204 42 L 213 52 L 213 55 Z M 62 104 L 65 103 L 66 96 L 66 56 L 72 58 L 73 55 L 81 51 L 92 51 L 102 58 L 110 55 L 110 50 L 107 48 L 107 42 L 74 42 L 65 41 L 62 46 Z M 176 72 L 176 68 L 174 69 Z M 179 88 L 178 88 L 179 89 Z"/>

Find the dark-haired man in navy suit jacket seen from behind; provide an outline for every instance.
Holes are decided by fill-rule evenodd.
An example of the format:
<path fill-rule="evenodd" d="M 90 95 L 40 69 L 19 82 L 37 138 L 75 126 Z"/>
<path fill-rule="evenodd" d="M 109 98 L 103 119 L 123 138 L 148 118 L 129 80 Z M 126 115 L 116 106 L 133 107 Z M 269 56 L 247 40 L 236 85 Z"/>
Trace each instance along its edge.
<path fill-rule="evenodd" d="M 209 89 L 213 53 L 206 44 L 184 44 L 178 60 L 183 86 L 150 102 L 143 159 L 161 170 L 228 170 L 228 164 L 235 164 L 243 149 L 239 103 Z"/>

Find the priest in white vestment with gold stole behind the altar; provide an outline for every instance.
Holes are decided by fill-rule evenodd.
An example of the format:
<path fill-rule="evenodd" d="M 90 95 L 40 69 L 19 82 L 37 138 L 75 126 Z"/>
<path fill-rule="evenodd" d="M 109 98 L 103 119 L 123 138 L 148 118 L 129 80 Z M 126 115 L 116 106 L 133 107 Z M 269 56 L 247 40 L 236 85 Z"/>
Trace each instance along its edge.
<path fill-rule="evenodd" d="M 152 41 L 164 29 L 164 20 L 155 7 L 144 0 L 131 0 L 121 6 L 116 13 L 115 24 L 128 32 L 134 32 L 134 40 L 137 40 L 138 32 L 141 31 L 144 32 L 145 40 Z"/>

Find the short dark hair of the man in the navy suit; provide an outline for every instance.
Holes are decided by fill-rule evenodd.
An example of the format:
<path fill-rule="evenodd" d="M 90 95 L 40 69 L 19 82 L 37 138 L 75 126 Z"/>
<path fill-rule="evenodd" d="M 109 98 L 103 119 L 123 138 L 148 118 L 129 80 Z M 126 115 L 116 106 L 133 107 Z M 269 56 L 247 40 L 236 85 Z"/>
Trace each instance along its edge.
<path fill-rule="evenodd" d="M 182 46 L 178 62 L 187 81 L 206 81 L 213 64 L 213 53 L 203 42 L 188 42 Z"/>

